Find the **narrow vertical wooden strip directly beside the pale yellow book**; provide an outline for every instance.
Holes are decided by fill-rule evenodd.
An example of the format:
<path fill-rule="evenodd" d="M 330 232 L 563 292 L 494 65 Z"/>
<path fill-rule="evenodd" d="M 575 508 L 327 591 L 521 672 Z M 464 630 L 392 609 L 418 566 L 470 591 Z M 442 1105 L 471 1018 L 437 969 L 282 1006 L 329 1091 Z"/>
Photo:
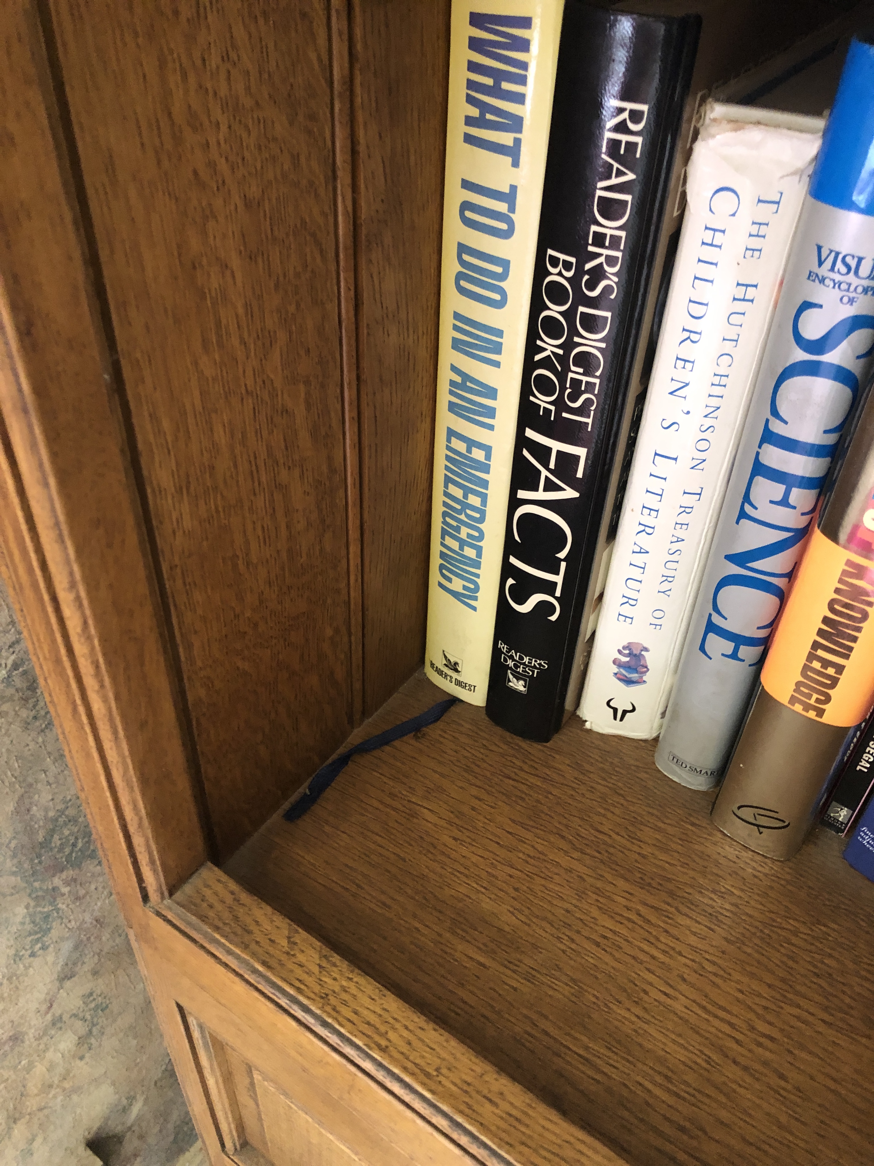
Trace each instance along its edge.
<path fill-rule="evenodd" d="M 352 2 L 368 716 L 424 654 L 449 12 Z"/>

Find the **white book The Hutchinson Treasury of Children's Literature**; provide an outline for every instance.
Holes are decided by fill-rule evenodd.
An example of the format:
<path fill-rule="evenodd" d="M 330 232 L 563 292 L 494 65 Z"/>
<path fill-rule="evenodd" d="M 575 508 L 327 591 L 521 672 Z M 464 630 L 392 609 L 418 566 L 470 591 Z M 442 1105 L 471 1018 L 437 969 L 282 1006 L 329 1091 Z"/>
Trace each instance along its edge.
<path fill-rule="evenodd" d="M 819 146 L 805 128 L 709 111 L 579 715 L 661 731 Z M 763 111 L 762 111 L 763 112 Z M 778 115 L 777 120 L 778 120 Z M 812 122 L 812 125 L 811 125 Z"/>

